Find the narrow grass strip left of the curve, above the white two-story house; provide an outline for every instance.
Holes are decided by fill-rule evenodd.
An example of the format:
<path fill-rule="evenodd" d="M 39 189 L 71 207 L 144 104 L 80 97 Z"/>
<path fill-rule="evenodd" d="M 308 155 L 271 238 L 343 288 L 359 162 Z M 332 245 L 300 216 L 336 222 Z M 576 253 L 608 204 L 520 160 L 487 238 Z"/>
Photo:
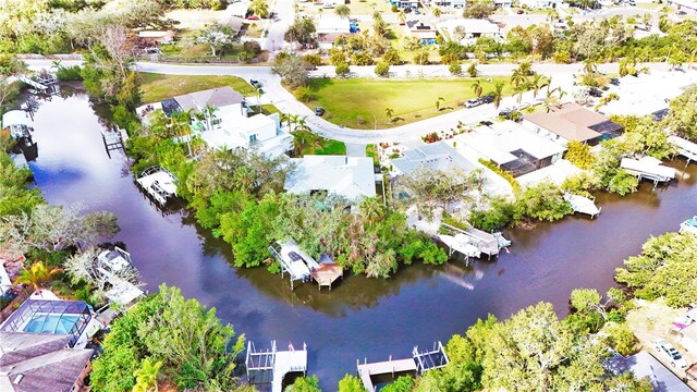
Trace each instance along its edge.
<path fill-rule="evenodd" d="M 230 86 L 243 96 L 255 96 L 256 94 L 254 87 L 237 76 L 140 73 L 138 79 L 143 91 L 143 102 L 157 102 L 182 94 L 223 86 Z"/>

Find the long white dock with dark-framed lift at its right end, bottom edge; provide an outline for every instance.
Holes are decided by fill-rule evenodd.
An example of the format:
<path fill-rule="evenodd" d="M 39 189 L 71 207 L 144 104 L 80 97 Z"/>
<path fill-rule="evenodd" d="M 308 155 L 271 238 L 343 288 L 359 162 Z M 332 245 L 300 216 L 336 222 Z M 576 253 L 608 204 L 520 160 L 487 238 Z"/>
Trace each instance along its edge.
<path fill-rule="evenodd" d="M 435 342 L 433 348 L 428 351 L 419 351 L 418 346 L 415 346 L 412 351 L 412 357 L 405 359 L 392 359 L 384 362 L 368 363 L 367 358 L 363 364 L 360 360 L 356 362 L 356 368 L 358 371 L 358 378 L 363 382 L 363 387 L 368 392 L 375 392 L 376 387 L 372 377 L 390 375 L 392 378 L 400 373 L 405 372 L 419 372 L 424 373 L 428 370 L 439 369 L 448 365 L 449 359 L 441 342 Z"/>

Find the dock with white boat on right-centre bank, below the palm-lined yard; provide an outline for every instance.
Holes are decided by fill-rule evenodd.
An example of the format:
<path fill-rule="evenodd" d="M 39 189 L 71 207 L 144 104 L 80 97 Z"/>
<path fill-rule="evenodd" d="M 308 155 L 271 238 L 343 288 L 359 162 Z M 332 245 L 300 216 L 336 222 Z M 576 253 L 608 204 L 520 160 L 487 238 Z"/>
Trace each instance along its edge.
<path fill-rule="evenodd" d="M 450 247 L 451 256 L 453 252 L 460 252 L 468 258 L 480 257 L 481 254 L 491 258 L 491 256 L 498 256 L 502 248 L 511 246 L 511 241 L 506 240 L 503 234 L 499 232 L 487 233 L 470 225 L 463 230 L 441 223 L 439 231 L 443 233 L 439 237 Z"/>

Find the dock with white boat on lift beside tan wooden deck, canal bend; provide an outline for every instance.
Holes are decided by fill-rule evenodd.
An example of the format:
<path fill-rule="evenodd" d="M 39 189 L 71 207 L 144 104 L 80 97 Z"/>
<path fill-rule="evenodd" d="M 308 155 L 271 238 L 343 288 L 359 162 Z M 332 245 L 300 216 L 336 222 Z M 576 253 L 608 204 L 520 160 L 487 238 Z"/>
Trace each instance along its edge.
<path fill-rule="evenodd" d="M 317 282 L 319 290 L 322 286 L 328 286 L 331 290 L 334 281 L 344 274 L 343 268 L 334 264 L 328 255 L 322 255 L 320 262 L 317 262 L 293 241 L 271 245 L 269 253 L 281 266 L 281 278 L 285 273 L 289 274 L 291 290 L 294 289 L 295 281 L 304 283 L 310 279 Z"/>

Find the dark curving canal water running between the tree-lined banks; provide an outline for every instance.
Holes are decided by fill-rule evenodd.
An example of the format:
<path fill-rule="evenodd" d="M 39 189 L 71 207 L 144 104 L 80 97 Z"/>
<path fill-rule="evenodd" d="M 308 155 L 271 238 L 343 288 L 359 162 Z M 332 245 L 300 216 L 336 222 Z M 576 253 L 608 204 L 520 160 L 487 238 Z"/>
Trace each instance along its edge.
<path fill-rule="evenodd" d="M 230 248 L 193 223 L 187 213 L 163 216 L 135 187 L 121 152 L 107 155 L 100 132 L 106 122 L 84 94 L 42 101 L 35 120 L 36 182 L 51 204 L 84 203 L 110 210 L 149 290 L 166 282 L 187 297 L 215 306 L 218 316 L 244 332 L 257 347 L 303 342 L 309 372 L 331 391 L 356 360 L 408 357 L 414 345 L 443 343 L 477 318 L 499 318 L 540 301 L 560 315 L 572 289 L 613 285 L 613 271 L 640 250 L 650 236 L 675 231 L 697 212 L 697 164 L 681 180 L 619 198 L 600 195 L 596 220 L 571 217 L 534 230 L 513 230 L 510 253 L 466 267 L 412 266 L 387 280 L 348 277 L 331 292 L 305 284 L 294 292 L 288 280 L 264 269 L 230 267 Z M 98 107 L 97 107 L 98 108 Z"/>

